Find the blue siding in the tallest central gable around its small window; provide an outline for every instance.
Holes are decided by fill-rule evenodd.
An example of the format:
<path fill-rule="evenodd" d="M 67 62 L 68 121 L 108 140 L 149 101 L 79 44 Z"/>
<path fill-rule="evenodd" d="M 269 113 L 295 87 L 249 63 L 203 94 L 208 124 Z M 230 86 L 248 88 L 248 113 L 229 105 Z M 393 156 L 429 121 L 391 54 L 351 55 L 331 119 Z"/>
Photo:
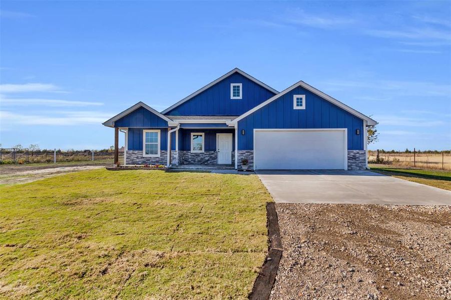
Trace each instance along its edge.
<path fill-rule="evenodd" d="M 242 99 L 230 98 L 230 84 L 242 83 Z M 169 110 L 166 115 L 240 115 L 274 93 L 240 73 L 233 73 L 198 95 Z"/>

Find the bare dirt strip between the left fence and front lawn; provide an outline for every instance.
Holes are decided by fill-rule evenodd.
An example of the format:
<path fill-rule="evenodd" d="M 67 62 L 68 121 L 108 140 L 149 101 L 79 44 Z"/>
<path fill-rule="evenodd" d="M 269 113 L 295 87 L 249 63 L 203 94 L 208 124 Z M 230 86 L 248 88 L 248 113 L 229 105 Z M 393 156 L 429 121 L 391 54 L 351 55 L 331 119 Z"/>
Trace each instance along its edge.
<path fill-rule="evenodd" d="M 27 183 L 39 179 L 52 177 L 64 173 L 77 172 L 102 168 L 103 165 L 83 166 L 31 166 L 31 167 L 7 167 L 0 168 L 0 184 Z"/>

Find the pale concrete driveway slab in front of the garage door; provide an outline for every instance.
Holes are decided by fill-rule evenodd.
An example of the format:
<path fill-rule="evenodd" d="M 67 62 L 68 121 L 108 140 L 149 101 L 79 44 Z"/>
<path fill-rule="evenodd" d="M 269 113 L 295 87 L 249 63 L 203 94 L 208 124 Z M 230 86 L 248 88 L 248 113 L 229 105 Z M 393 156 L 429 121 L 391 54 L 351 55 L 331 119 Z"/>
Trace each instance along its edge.
<path fill-rule="evenodd" d="M 451 191 L 371 171 L 256 171 L 278 203 L 451 205 Z"/>

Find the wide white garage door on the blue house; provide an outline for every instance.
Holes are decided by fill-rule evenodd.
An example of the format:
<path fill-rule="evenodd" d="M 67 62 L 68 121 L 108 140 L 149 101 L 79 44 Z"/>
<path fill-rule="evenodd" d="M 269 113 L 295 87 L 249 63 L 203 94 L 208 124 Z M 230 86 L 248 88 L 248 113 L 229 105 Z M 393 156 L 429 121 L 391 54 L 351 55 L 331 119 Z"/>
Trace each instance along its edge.
<path fill-rule="evenodd" d="M 346 169 L 344 129 L 256 129 L 255 168 Z"/>

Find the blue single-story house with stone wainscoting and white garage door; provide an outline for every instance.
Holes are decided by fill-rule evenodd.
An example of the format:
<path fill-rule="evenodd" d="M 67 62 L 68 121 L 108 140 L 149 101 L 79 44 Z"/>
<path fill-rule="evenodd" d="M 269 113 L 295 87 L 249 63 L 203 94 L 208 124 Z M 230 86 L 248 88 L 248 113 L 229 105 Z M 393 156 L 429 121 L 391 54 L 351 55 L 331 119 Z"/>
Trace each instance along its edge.
<path fill-rule="evenodd" d="M 103 123 L 125 133 L 124 164 L 364 169 L 377 122 L 298 81 L 279 92 L 235 68 L 167 109 L 138 102 Z"/>

